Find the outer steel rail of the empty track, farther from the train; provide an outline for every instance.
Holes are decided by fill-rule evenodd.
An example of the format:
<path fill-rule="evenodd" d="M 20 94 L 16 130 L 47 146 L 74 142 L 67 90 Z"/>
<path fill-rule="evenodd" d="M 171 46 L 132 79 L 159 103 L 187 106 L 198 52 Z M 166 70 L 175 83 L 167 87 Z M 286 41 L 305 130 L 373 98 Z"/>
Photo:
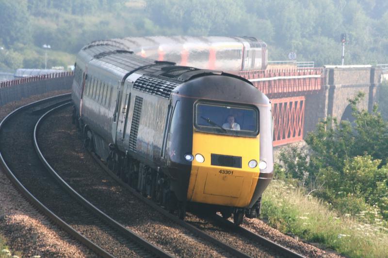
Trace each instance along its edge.
<path fill-rule="evenodd" d="M 0 132 L 5 124 L 6 121 L 8 121 L 11 117 L 15 116 L 20 111 L 30 108 L 35 105 L 39 105 L 44 102 L 48 102 L 50 100 L 54 100 L 57 98 L 61 98 L 64 96 L 70 96 L 70 93 L 58 95 L 50 98 L 46 98 L 43 100 L 32 102 L 28 105 L 21 106 L 17 109 L 15 109 L 13 112 L 9 113 L 1 122 L 0 122 Z M 74 228 L 72 228 L 70 225 L 68 225 L 65 221 L 63 221 L 60 217 L 55 215 L 53 212 L 51 212 L 43 203 L 41 203 L 38 199 L 36 199 L 24 186 L 23 184 L 16 178 L 14 173 L 11 171 L 11 169 L 7 166 L 5 163 L 5 160 L 3 158 L 3 155 L 0 151 L 0 163 L 1 166 L 4 168 L 4 172 L 7 175 L 7 177 L 10 179 L 10 181 L 14 184 L 16 189 L 27 199 L 29 203 L 31 203 L 36 209 L 38 209 L 40 212 L 42 212 L 45 216 L 47 216 L 51 221 L 53 221 L 55 224 L 57 224 L 60 228 L 65 230 L 68 234 L 70 234 L 72 237 L 89 247 L 91 250 L 93 250 L 97 255 L 104 257 L 104 258 L 113 258 L 111 254 L 103 250 L 101 247 L 96 245 L 95 243 L 91 242 L 86 237 L 82 236 L 79 232 L 77 232 Z"/>

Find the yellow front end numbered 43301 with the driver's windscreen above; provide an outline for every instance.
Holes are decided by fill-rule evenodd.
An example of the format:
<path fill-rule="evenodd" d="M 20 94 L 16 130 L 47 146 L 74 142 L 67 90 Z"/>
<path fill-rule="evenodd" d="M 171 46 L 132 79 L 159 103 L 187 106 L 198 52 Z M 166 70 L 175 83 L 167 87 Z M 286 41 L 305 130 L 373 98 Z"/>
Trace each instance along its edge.
<path fill-rule="evenodd" d="M 247 207 L 260 172 L 258 109 L 200 103 L 196 105 L 195 113 L 194 160 L 187 199 L 199 203 Z M 239 130 L 226 129 L 229 124 L 222 123 L 223 116 L 236 117 L 241 123 Z M 252 162 L 249 166 L 250 161 L 256 166 L 252 166 Z"/>

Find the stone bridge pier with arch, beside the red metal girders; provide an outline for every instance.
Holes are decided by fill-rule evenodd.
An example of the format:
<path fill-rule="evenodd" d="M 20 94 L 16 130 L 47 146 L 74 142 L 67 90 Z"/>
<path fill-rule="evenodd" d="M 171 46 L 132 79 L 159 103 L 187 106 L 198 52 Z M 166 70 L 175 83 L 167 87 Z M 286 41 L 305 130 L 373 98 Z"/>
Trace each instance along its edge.
<path fill-rule="evenodd" d="M 377 101 L 381 69 L 364 66 L 325 66 L 323 90 L 306 95 L 304 136 L 316 128 L 316 124 L 327 116 L 338 121 L 352 121 L 352 109 L 348 99 L 358 92 L 365 96 L 358 108 L 372 111 Z"/>

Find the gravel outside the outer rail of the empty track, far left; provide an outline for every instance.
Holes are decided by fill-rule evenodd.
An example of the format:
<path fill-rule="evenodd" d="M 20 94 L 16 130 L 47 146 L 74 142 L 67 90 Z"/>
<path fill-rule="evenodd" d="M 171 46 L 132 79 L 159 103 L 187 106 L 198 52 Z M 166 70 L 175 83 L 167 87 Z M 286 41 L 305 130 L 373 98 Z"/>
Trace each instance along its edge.
<path fill-rule="evenodd" d="M 0 120 L 17 107 L 69 91 L 52 91 L 0 106 Z M 0 234 L 23 257 L 93 257 L 93 253 L 29 204 L 0 167 Z"/>

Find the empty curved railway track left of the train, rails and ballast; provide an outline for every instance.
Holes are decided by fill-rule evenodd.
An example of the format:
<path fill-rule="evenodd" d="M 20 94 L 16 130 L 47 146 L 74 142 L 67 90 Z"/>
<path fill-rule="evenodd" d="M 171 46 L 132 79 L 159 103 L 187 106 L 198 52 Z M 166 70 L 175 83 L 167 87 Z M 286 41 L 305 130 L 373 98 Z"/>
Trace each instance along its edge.
<path fill-rule="evenodd" d="M 32 131 L 36 133 L 42 113 L 68 104 L 70 94 L 48 98 L 22 106 L 1 121 L 0 161 L 7 176 L 40 212 L 97 256 L 172 257 L 88 204 L 48 169 Z"/>

